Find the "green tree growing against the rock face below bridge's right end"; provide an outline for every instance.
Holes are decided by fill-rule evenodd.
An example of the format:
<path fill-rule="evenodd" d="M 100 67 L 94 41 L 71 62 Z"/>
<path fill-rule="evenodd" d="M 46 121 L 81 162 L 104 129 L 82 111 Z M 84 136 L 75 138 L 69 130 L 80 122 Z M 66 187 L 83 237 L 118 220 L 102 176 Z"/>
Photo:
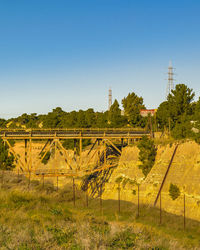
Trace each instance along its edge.
<path fill-rule="evenodd" d="M 139 160 L 142 162 L 139 168 L 142 169 L 146 177 L 154 165 L 157 149 L 153 140 L 149 139 L 147 136 L 142 137 L 138 143 L 138 148 L 140 150 Z"/>

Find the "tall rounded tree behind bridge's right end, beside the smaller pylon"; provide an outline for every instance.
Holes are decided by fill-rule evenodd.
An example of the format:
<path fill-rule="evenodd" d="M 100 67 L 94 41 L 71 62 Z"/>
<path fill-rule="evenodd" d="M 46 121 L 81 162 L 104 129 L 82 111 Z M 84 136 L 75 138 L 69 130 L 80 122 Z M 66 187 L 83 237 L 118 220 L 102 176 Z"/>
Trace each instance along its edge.
<path fill-rule="evenodd" d="M 140 115 L 140 110 L 145 109 L 143 98 L 138 97 L 134 92 L 132 92 L 122 100 L 122 105 L 129 123 L 134 127 L 141 126 L 143 119 Z"/>

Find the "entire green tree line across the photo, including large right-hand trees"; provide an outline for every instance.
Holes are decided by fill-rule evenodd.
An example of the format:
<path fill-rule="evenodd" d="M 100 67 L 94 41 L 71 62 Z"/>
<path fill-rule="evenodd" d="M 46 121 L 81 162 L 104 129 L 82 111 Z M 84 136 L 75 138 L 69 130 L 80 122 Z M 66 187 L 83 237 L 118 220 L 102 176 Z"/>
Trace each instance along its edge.
<path fill-rule="evenodd" d="M 194 137 L 200 141 L 200 98 L 194 101 L 195 93 L 185 84 L 176 85 L 162 102 L 154 117 L 142 117 L 140 110 L 145 109 L 144 100 L 134 92 L 119 102 L 114 100 L 109 111 L 95 112 L 92 108 L 65 112 L 57 107 L 48 114 L 22 114 L 17 118 L 0 119 L 0 127 L 6 128 L 146 128 L 156 131 L 168 130 L 176 139 Z M 199 137 L 199 138 L 198 138 Z"/>

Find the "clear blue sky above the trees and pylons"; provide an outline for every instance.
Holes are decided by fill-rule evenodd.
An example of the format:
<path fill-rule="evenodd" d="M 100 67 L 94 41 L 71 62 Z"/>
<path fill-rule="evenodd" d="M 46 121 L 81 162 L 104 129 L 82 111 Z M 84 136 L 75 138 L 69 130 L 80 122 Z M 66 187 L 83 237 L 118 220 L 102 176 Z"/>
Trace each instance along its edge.
<path fill-rule="evenodd" d="M 0 117 L 165 99 L 167 67 L 200 95 L 199 0 L 0 0 Z"/>

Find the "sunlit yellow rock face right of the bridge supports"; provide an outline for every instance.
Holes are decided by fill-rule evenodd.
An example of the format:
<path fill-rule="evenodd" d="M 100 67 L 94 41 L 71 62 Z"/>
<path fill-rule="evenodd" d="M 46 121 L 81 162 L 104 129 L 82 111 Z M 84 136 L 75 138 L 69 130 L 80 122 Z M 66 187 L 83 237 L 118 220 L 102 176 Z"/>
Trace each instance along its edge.
<path fill-rule="evenodd" d="M 158 146 L 154 167 L 144 179 L 142 171 L 138 168 L 140 164 L 138 148 L 136 146 L 124 148 L 119 165 L 105 186 L 103 198 L 118 199 L 116 179 L 119 176 L 125 176 L 140 183 L 141 202 L 153 206 L 174 149 L 175 144 Z M 181 191 L 181 195 L 174 201 L 169 195 L 171 183 L 176 184 Z M 176 151 L 161 192 L 162 208 L 168 212 L 183 215 L 184 194 L 186 216 L 200 220 L 200 145 L 192 141 L 180 144 Z M 124 188 L 121 187 L 121 199 L 137 203 L 137 186 L 127 184 Z M 159 206 L 159 202 L 156 206 Z"/>

